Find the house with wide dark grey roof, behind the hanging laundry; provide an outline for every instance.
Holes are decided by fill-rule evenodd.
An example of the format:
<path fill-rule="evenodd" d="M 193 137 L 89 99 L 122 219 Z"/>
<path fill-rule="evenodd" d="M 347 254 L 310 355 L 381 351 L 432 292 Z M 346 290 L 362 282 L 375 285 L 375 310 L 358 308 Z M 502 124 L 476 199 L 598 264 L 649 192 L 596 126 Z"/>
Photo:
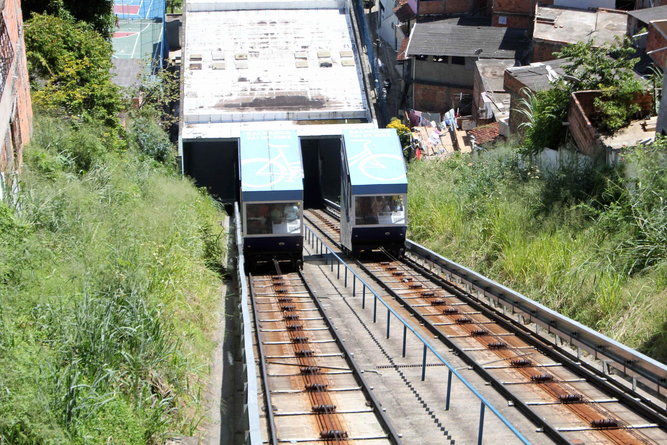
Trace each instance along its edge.
<path fill-rule="evenodd" d="M 475 62 L 505 59 L 519 65 L 530 49 L 528 31 L 493 27 L 490 17 L 458 17 L 417 23 L 406 48 L 409 107 L 446 112 L 473 108 Z"/>

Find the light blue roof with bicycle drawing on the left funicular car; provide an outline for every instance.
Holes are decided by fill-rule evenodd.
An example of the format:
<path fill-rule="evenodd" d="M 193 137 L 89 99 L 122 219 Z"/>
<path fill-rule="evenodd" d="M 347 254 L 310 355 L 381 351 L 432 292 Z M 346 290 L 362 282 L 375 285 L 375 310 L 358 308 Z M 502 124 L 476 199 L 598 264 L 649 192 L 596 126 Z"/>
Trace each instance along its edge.
<path fill-rule="evenodd" d="M 303 199 L 301 147 L 295 130 L 241 131 L 244 201 Z"/>

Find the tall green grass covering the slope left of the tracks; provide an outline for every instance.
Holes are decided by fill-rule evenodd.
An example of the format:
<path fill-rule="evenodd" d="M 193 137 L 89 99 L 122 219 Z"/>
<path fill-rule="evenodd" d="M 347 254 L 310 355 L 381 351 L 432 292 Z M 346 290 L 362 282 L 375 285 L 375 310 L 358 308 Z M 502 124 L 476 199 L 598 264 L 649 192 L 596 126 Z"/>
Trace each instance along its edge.
<path fill-rule="evenodd" d="M 159 443 L 203 418 L 221 209 L 103 131 L 38 116 L 0 203 L 3 445 Z"/>

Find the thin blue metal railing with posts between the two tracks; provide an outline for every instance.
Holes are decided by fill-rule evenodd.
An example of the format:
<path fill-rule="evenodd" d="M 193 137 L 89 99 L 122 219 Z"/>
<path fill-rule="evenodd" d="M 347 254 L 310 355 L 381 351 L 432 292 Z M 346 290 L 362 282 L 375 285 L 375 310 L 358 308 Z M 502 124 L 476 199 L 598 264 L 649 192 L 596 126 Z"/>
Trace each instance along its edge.
<path fill-rule="evenodd" d="M 340 207 L 339 207 L 340 209 Z M 387 338 L 390 338 L 390 328 L 391 328 L 391 316 L 401 322 L 403 325 L 403 356 L 406 356 L 406 340 L 408 336 L 408 330 L 412 332 L 421 342 L 424 344 L 424 353 L 422 356 L 422 381 L 426 380 L 426 353 L 430 350 L 442 364 L 444 364 L 448 370 L 447 378 L 447 400 L 445 404 L 445 410 L 450 409 L 450 394 L 452 390 L 452 375 L 456 376 L 465 386 L 468 388 L 479 400 L 480 400 L 480 423 L 478 430 L 478 445 L 482 445 L 482 436 L 484 433 L 484 412 L 486 408 L 489 408 L 496 417 L 503 422 L 512 433 L 524 444 L 530 445 L 530 442 L 516 429 L 514 426 L 506 419 L 498 410 L 482 396 L 468 381 L 452 366 L 447 360 L 445 360 L 439 353 L 436 351 L 429 342 L 426 341 L 410 324 L 408 324 L 401 316 L 399 316 L 390 306 L 372 289 L 362 278 L 348 266 L 346 262 L 338 255 L 336 252 L 333 252 L 329 247 L 323 243 L 323 240 L 308 226 L 304 226 L 306 229 L 306 238 L 304 242 L 311 244 L 311 247 L 315 249 L 315 255 L 324 256 L 324 264 L 329 264 L 329 258 L 331 258 L 331 272 L 333 272 L 333 261 L 336 259 L 338 262 L 338 279 L 340 279 L 340 266 L 344 266 L 344 287 L 348 287 L 348 271 L 352 274 L 352 295 L 355 296 L 358 292 L 357 290 L 357 281 L 360 282 L 362 287 L 362 309 L 366 309 L 366 290 L 368 290 L 373 296 L 373 322 L 377 321 L 378 316 L 378 301 L 387 308 Z"/>

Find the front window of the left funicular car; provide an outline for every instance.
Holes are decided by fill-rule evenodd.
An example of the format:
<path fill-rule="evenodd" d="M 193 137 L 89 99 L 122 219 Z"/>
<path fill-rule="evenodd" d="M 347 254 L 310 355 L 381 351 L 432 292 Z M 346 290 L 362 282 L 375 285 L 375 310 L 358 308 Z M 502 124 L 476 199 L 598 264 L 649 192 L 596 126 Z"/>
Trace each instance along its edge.
<path fill-rule="evenodd" d="M 301 234 L 301 202 L 245 204 L 247 235 Z"/>

